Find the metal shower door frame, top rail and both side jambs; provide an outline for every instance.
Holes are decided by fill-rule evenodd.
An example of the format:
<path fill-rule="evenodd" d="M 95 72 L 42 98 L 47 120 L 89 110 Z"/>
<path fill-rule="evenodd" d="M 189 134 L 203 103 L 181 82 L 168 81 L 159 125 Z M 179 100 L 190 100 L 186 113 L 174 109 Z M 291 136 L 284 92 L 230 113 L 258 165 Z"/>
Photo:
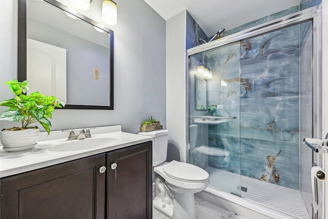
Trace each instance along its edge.
<path fill-rule="evenodd" d="M 243 39 L 250 38 L 253 36 L 261 35 L 264 33 L 272 32 L 281 28 L 285 28 L 288 26 L 293 26 L 297 24 L 301 24 L 306 21 L 312 21 L 312 28 L 313 28 L 313 136 L 315 138 L 321 138 L 323 135 L 323 69 L 322 69 L 322 4 L 319 6 L 314 6 L 312 8 L 308 8 L 290 15 L 286 15 L 275 19 L 271 22 L 267 22 L 247 30 L 240 31 L 235 34 L 228 35 L 221 39 L 217 39 L 216 41 L 212 41 L 207 44 L 203 44 L 191 49 L 187 50 L 187 58 L 189 62 L 189 56 L 205 52 L 210 49 L 214 49 L 220 46 L 228 45 L 230 43 L 242 41 Z M 187 93 L 187 100 L 186 100 L 186 130 L 189 130 L 189 65 L 188 62 L 186 63 L 187 70 L 186 70 L 186 93 Z M 189 131 L 186 132 L 186 161 L 189 162 Z M 312 153 L 313 161 L 317 163 L 319 166 L 324 164 L 322 155 L 318 153 Z M 323 193 L 325 191 L 324 186 L 322 187 Z M 235 197 L 232 194 L 224 194 L 228 197 L 231 197 L 233 200 Z M 243 200 L 243 198 L 241 198 Z M 260 205 L 260 204 L 259 204 Z M 324 199 L 322 200 L 322 218 L 324 218 Z"/>

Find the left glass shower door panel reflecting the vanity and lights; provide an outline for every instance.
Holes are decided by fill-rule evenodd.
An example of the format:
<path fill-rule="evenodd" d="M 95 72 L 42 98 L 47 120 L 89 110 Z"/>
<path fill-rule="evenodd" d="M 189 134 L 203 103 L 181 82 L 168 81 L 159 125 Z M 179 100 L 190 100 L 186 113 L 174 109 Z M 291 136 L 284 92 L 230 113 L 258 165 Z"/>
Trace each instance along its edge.
<path fill-rule="evenodd" d="M 212 188 L 238 196 L 240 80 L 239 42 L 189 58 L 189 163 L 209 172 Z"/>

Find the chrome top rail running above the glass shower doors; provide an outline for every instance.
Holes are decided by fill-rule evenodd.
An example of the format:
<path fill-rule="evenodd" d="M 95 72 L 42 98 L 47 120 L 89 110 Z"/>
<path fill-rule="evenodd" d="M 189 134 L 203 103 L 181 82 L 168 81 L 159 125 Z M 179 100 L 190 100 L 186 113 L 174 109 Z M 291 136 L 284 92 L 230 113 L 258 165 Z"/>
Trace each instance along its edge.
<path fill-rule="evenodd" d="M 273 21 L 267 22 L 265 24 L 261 24 L 238 33 L 231 34 L 229 36 L 222 37 L 217 39 L 216 41 L 212 41 L 207 44 L 203 44 L 191 49 L 187 50 L 187 55 L 193 55 L 199 52 L 203 52 L 209 49 L 213 49 L 219 46 L 223 46 L 226 44 L 230 44 L 236 41 L 240 41 L 241 39 L 249 38 L 252 36 L 256 36 L 259 34 L 267 33 L 269 31 L 273 31 L 287 25 L 293 25 L 302 21 L 306 21 L 308 19 L 312 19 L 317 14 L 321 13 L 321 8 L 314 6 L 312 8 L 308 8 L 290 15 L 286 15 L 284 17 L 280 17 Z"/>

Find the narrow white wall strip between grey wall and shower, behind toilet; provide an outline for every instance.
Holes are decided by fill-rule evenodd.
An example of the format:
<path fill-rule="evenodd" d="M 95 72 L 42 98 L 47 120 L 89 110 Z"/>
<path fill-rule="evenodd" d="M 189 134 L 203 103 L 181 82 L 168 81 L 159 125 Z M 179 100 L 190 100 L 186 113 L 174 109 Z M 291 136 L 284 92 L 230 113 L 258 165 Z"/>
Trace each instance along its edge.
<path fill-rule="evenodd" d="M 166 24 L 168 161 L 186 157 L 186 11 Z"/>

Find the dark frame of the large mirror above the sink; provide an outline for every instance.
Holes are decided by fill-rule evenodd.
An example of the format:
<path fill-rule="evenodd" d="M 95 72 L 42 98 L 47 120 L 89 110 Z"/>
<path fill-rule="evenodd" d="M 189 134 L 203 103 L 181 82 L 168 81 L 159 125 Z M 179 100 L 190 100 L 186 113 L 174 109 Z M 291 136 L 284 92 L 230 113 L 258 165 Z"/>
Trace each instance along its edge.
<path fill-rule="evenodd" d="M 45 2 L 61 9 L 67 11 L 74 16 L 82 19 L 83 21 L 98 27 L 110 34 L 110 100 L 109 106 L 90 106 L 90 105 L 65 105 L 64 108 L 58 109 L 104 109 L 104 110 L 114 110 L 114 32 L 97 22 L 93 21 L 89 17 L 86 17 L 80 13 L 74 12 L 69 7 L 54 1 L 54 0 L 44 0 Z M 26 71 L 27 71 L 27 0 L 18 0 L 18 28 L 17 28 L 17 80 L 19 82 L 25 81 Z"/>

